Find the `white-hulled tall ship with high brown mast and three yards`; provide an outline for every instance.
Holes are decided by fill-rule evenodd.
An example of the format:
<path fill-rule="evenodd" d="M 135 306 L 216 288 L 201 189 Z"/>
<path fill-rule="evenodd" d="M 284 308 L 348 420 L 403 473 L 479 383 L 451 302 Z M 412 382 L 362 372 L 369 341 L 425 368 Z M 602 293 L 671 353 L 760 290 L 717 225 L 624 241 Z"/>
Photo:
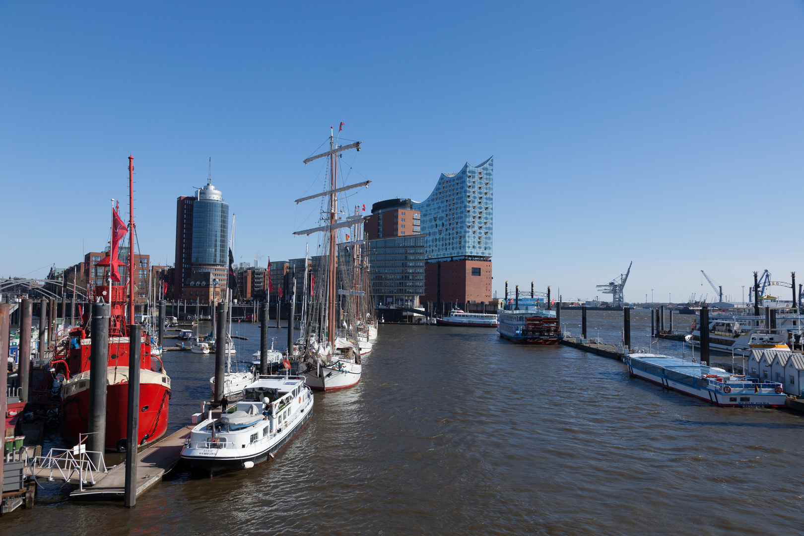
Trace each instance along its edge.
<path fill-rule="evenodd" d="M 362 239 L 363 215 L 360 215 L 358 207 L 354 208 L 354 215 L 349 215 L 351 209 L 338 203 L 339 193 L 366 187 L 371 182 L 349 185 L 338 182 L 338 157 L 348 149 L 360 150 L 360 143 L 354 141 L 338 145 L 334 131 L 330 129 L 330 149 L 304 160 L 305 164 L 309 164 L 326 158 L 324 169 L 328 187 L 318 194 L 296 200 L 296 203 L 302 203 L 313 198 L 326 198 L 326 204 L 322 207 L 322 225 L 293 233 L 311 235 L 320 232 L 323 237 L 319 247 L 325 255 L 317 269 L 318 277 L 310 279 L 310 293 L 307 292 L 305 268 L 301 344 L 289 344 L 288 349 L 288 357 L 298 363 L 298 373 L 305 378 L 306 386 L 317 391 L 335 391 L 357 385 L 363 374 L 361 352 L 371 350 L 368 327 L 371 325 L 371 310 L 367 300 L 368 256 L 364 255 L 365 241 Z M 355 227 L 355 230 L 352 231 L 351 227 Z M 340 230 L 345 233 L 343 239 L 340 239 Z M 352 233 L 351 240 L 349 232 Z M 293 294 L 295 288 L 294 280 Z M 308 304 L 310 294 L 312 297 Z M 292 304 L 295 304 L 295 298 Z M 361 332 L 368 335 L 363 341 Z"/>

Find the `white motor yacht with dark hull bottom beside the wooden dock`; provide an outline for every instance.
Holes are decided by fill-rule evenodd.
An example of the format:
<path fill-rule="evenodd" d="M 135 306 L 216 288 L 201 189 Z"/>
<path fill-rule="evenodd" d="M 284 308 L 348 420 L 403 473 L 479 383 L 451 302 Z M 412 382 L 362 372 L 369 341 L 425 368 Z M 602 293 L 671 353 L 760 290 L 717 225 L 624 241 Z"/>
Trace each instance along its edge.
<path fill-rule="evenodd" d="M 192 429 L 181 457 L 212 473 L 252 468 L 273 458 L 310 419 L 313 395 L 300 376 L 261 376 L 244 389 L 235 411 Z"/>

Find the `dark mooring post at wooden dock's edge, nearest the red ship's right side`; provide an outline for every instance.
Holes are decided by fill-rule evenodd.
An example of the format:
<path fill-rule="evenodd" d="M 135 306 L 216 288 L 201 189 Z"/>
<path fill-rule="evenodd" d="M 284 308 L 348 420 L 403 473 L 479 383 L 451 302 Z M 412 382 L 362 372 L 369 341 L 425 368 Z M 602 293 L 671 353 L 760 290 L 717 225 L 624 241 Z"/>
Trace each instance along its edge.
<path fill-rule="evenodd" d="M 165 309 L 162 301 L 160 310 Z M 140 349 L 142 328 L 129 325 L 129 407 L 125 422 L 125 490 L 123 504 L 137 505 L 137 445 L 140 440 Z"/>

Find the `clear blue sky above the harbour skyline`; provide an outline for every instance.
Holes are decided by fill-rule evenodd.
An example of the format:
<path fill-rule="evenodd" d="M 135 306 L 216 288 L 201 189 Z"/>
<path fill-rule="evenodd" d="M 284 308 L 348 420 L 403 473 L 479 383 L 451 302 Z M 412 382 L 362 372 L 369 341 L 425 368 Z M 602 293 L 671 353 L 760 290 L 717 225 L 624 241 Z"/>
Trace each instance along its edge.
<path fill-rule="evenodd" d="M 301 160 L 344 121 L 355 203 L 494 155 L 500 292 L 593 298 L 631 260 L 626 300 L 804 281 L 802 29 L 801 2 L 0 2 L 0 274 L 105 245 L 129 153 L 154 261 L 210 157 L 238 256 L 303 256 Z"/>

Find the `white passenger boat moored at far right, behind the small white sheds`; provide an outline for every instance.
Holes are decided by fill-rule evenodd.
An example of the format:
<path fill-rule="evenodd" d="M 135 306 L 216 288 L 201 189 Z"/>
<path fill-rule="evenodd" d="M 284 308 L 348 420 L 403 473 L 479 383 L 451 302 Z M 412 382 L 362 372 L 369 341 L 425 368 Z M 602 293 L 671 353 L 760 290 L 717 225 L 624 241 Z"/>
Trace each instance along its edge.
<path fill-rule="evenodd" d="M 776 315 L 776 329 L 765 325 L 765 315 L 736 315 L 709 313 L 709 349 L 735 355 L 751 355 L 753 349 L 789 351 L 796 335 L 802 334 L 804 315 L 780 312 Z M 687 342 L 700 346 L 700 319 L 691 325 Z"/>

